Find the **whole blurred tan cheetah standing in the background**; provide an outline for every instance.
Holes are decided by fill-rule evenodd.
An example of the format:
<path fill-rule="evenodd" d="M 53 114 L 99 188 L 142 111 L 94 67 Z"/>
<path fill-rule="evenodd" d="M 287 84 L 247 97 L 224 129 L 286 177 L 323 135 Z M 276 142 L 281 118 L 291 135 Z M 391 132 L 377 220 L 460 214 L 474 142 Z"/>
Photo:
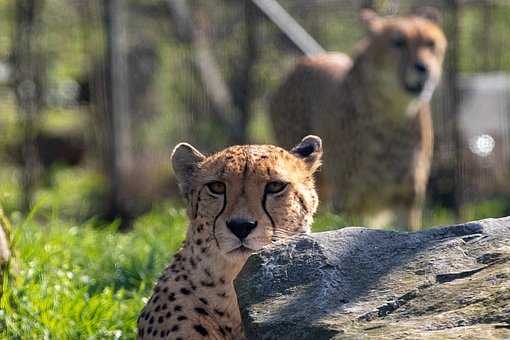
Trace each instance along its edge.
<path fill-rule="evenodd" d="M 303 58 L 290 72 L 271 102 L 275 134 L 283 146 L 307 133 L 323 137 L 320 193 L 337 211 L 367 217 L 390 209 L 392 223 L 418 228 L 433 147 L 429 100 L 445 36 L 422 17 L 364 14 L 369 37 L 353 61 L 329 53 Z"/>

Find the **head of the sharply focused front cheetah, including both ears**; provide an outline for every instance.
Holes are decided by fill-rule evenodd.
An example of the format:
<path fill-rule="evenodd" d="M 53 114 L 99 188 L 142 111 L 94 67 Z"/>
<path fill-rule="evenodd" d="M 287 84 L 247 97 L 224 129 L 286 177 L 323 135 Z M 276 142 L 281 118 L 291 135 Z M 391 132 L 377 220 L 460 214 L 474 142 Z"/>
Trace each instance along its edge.
<path fill-rule="evenodd" d="M 195 229 L 191 238 L 237 261 L 273 240 L 308 232 L 318 205 L 313 174 L 321 156 L 315 136 L 290 151 L 243 145 L 208 157 L 179 144 L 172 164 Z"/>

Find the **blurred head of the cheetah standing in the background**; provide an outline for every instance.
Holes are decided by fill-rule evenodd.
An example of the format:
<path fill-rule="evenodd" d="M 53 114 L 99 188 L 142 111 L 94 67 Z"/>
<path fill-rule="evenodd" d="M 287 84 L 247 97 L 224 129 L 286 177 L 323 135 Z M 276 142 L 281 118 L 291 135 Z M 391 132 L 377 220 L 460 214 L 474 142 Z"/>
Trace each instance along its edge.
<path fill-rule="evenodd" d="M 421 16 L 380 17 L 362 13 L 370 31 L 370 53 L 387 84 L 411 97 L 430 99 L 441 77 L 446 38 L 435 20 Z"/>

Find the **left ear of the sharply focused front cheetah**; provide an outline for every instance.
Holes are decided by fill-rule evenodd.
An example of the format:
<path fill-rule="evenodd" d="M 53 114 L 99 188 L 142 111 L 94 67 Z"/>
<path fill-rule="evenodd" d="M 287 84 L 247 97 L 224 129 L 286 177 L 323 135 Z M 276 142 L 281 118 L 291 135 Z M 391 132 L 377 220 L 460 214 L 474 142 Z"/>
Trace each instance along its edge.
<path fill-rule="evenodd" d="M 184 195 L 188 194 L 193 173 L 204 159 L 205 156 L 188 143 L 179 143 L 172 151 L 172 168 Z"/>

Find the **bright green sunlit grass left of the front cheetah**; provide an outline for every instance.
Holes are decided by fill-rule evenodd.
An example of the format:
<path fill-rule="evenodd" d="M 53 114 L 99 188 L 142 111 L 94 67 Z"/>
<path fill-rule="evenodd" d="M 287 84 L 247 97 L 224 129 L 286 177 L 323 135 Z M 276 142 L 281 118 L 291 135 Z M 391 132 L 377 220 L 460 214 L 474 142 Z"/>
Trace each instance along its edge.
<path fill-rule="evenodd" d="M 134 337 L 144 299 L 184 238 L 184 213 L 160 207 L 129 233 L 96 224 L 14 224 L 17 263 L 4 282 L 0 338 Z"/>

